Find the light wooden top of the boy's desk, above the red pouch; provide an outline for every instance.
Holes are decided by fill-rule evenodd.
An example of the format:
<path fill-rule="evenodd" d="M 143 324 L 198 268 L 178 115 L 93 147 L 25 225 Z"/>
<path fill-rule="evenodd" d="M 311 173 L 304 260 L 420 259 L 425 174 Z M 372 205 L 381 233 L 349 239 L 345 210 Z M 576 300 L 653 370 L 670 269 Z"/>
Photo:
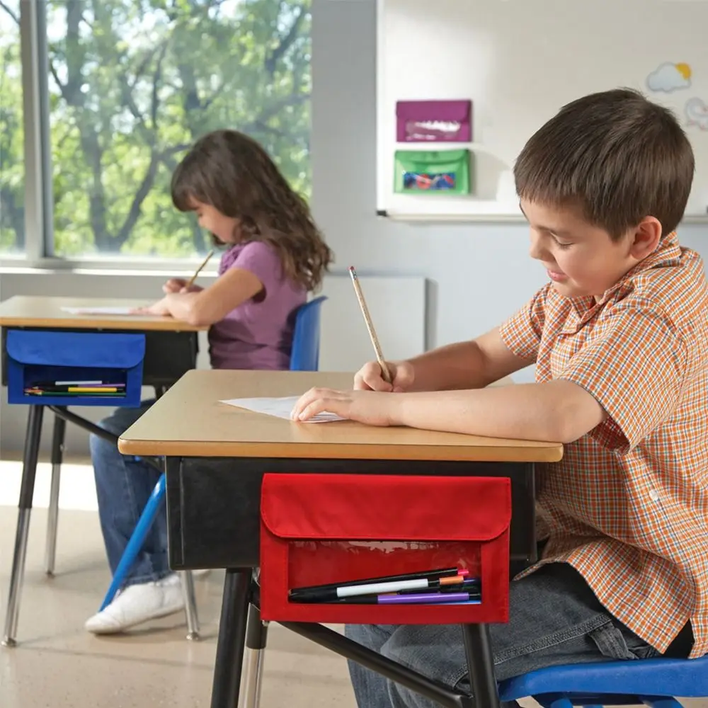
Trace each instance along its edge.
<path fill-rule="evenodd" d="M 172 457 L 477 462 L 556 462 L 563 455 L 563 446 L 554 442 L 371 428 L 351 421 L 294 423 L 219 403 L 296 396 L 313 386 L 348 389 L 352 379 L 351 374 L 325 372 L 189 371 L 123 433 L 118 449 L 126 455 Z"/>

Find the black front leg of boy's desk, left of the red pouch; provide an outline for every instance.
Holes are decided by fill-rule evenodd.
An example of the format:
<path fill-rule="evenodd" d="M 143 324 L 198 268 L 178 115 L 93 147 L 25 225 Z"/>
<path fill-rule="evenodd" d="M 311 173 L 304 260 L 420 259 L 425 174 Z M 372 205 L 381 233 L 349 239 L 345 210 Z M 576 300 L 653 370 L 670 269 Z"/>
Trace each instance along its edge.
<path fill-rule="evenodd" d="M 239 704 L 250 590 L 250 568 L 226 571 L 211 708 L 236 708 Z"/>

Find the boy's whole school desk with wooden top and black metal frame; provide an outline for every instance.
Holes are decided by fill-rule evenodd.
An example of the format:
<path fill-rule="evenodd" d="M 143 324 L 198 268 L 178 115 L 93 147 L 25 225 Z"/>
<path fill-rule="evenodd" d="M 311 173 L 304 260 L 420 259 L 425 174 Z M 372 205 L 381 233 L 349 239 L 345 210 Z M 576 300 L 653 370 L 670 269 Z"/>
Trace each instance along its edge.
<path fill-rule="evenodd" d="M 347 388 L 351 381 L 346 374 L 190 371 L 118 441 L 125 454 L 167 458 L 171 567 L 227 569 L 212 708 L 238 703 L 244 642 L 250 649 L 265 646 L 256 608 L 258 588 L 251 586 L 251 569 L 259 564 L 259 504 L 265 472 L 508 476 L 513 507 L 511 556 L 521 564 L 535 560 L 533 464 L 561 459 L 561 445 L 368 428 L 348 421 L 293 423 L 219 403 L 239 397 L 293 396 L 312 386 Z M 362 660 L 360 649 L 324 627 L 282 624 L 343 656 Z M 468 630 L 478 662 L 470 666 L 478 704 L 496 706 L 486 627 L 469 625 Z M 425 681 L 377 655 L 365 656 L 364 661 L 395 680 L 404 676 Z M 443 705 L 468 704 L 469 698 L 451 688 L 435 690 Z"/>

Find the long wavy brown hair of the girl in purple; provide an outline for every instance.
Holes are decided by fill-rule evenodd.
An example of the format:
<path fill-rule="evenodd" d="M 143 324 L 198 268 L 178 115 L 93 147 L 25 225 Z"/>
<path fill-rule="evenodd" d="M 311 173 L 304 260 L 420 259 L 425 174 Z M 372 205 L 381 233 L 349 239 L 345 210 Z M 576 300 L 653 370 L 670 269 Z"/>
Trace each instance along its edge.
<path fill-rule="evenodd" d="M 287 278 L 317 290 L 332 251 L 307 203 L 255 140 L 236 130 L 200 138 L 172 176 L 175 207 L 193 211 L 195 200 L 239 219 L 244 240 L 272 246 Z"/>

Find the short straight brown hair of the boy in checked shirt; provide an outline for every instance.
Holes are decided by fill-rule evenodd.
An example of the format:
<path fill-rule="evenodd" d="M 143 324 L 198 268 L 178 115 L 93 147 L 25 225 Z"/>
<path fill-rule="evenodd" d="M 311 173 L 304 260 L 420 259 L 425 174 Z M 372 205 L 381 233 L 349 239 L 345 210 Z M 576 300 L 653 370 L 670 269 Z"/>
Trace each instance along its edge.
<path fill-rule="evenodd" d="M 695 164 L 668 108 L 639 91 L 591 93 L 564 105 L 525 144 L 514 166 L 521 199 L 577 207 L 619 239 L 647 216 L 662 236 L 683 217 Z"/>

